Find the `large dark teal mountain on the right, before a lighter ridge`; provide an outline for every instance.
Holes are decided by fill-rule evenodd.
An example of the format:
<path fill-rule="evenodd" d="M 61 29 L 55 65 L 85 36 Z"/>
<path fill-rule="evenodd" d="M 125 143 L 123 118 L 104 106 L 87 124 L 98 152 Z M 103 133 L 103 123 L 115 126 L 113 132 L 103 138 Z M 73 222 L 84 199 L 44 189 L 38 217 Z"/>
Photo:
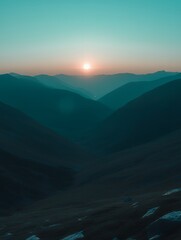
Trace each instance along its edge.
<path fill-rule="evenodd" d="M 98 151 L 115 152 L 181 127 L 181 79 L 160 86 L 113 113 L 93 133 Z"/>

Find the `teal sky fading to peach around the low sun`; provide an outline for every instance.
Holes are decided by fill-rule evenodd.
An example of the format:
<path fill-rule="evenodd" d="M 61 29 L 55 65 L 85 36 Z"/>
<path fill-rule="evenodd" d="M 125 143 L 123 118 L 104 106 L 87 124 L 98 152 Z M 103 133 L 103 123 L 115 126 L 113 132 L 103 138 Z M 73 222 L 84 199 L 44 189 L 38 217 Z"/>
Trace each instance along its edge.
<path fill-rule="evenodd" d="M 0 0 L 0 73 L 181 71 L 180 0 Z"/>

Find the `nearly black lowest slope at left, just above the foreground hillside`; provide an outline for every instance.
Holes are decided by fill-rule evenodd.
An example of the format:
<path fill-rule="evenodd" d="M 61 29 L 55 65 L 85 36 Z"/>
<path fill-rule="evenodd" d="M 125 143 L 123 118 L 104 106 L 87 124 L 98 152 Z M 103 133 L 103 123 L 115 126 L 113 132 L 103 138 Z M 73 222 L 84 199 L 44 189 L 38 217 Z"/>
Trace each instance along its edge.
<path fill-rule="evenodd" d="M 74 175 L 69 168 L 27 160 L 0 149 L 0 212 L 67 189 L 74 183 Z"/>

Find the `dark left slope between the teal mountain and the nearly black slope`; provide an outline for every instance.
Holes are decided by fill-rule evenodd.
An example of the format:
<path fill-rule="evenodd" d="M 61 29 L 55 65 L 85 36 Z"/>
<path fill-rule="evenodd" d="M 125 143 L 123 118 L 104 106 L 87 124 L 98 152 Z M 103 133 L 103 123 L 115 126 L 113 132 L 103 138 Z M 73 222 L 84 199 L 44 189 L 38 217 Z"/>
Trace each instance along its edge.
<path fill-rule="evenodd" d="M 0 149 L 19 158 L 49 165 L 75 167 L 85 155 L 77 146 L 0 102 Z"/>

